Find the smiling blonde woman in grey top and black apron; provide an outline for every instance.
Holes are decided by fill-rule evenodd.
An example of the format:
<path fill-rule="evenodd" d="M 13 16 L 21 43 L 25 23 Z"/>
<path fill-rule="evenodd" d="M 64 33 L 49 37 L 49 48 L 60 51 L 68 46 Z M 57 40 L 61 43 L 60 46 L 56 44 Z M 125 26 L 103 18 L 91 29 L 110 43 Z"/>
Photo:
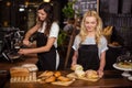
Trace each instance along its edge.
<path fill-rule="evenodd" d="M 84 69 L 95 69 L 103 76 L 107 40 L 101 33 L 102 21 L 96 11 L 84 14 L 80 33 L 75 37 L 72 66 L 82 65 Z"/>

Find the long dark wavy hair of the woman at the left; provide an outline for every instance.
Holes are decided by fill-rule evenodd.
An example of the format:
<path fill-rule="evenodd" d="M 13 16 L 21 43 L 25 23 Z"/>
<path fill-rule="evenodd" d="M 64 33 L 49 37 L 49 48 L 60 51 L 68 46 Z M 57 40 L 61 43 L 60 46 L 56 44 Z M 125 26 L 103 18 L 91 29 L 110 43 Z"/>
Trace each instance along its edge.
<path fill-rule="evenodd" d="M 46 22 L 45 34 L 47 35 L 47 34 L 50 34 L 51 25 L 54 22 L 53 6 L 50 2 L 43 2 L 40 4 L 37 10 L 44 10 L 47 13 L 47 16 L 45 20 L 45 22 Z"/>

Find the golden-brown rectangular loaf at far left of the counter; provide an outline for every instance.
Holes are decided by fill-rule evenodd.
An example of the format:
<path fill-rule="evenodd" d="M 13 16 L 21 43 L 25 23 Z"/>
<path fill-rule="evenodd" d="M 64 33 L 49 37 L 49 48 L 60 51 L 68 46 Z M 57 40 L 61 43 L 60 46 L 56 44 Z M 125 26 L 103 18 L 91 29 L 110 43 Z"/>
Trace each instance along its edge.
<path fill-rule="evenodd" d="M 30 72 L 28 68 L 23 67 L 12 67 L 10 69 L 11 77 L 21 77 L 21 76 L 29 76 Z"/>

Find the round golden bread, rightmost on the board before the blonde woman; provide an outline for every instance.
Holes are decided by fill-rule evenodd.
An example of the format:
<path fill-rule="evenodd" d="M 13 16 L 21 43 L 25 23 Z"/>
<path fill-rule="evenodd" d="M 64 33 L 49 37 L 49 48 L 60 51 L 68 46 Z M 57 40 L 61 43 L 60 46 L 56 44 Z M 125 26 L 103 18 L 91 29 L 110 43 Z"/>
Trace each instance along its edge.
<path fill-rule="evenodd" d="M 97 72 L 92 70 L 92 69 L 86 70 L 86 77 L 89 78 L 89 79 L 97 79 L 97 78 L 99 78 Z"/>

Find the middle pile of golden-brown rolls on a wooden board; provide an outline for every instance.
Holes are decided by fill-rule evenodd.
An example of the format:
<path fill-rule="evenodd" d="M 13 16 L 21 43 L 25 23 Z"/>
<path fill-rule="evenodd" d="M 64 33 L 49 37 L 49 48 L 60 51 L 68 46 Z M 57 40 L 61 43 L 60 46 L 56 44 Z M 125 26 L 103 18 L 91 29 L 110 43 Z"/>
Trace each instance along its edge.
<path fill-rule="evenodd" d="M 45 70 L 37 77 L 37 81 L 41 84 L 53 84 L 53 85 L 61 85 L 61 86 L 69 86 L 74 82 L 74 78 L 66 77 L 62 75 L 61 72 L 51 72 Z"/>

